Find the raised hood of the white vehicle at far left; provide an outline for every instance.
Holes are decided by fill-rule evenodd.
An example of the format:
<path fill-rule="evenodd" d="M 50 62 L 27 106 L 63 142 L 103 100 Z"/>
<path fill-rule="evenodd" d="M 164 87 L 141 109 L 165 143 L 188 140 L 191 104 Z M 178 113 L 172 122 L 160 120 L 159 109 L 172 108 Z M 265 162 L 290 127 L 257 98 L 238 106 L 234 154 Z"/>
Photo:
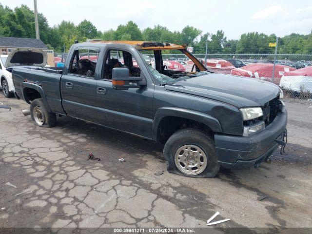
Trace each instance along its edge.
<path fill-rule="evenodd" d="M 39 66 L 47 64 L 47 52 L 40 49 L 16 49 L 6 59 L 5 67 L 13 66 Z"/>

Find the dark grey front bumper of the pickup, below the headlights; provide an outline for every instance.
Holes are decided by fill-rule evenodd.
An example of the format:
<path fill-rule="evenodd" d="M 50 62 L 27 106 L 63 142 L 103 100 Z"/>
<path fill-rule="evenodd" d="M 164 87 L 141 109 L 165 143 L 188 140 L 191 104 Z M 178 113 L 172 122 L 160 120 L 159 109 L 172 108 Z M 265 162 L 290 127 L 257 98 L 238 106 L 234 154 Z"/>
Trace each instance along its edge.
<path fill-rule="evenodd" d="M 287 125 L 287 111 L 279 113 L 262 132 L 250 137 L 215 135 L 218 161 L 225 168 L 257 166 L 271 156 L 282 140 Z"/>

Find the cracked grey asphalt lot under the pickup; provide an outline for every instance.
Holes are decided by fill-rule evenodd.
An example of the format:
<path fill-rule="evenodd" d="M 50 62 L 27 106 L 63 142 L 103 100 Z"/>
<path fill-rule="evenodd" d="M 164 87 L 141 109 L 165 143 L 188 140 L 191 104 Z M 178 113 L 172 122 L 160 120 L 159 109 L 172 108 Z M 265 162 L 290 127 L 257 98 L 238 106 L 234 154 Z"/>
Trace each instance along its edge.
<path fill-rule="evenodd" d="M 21 113 L 27 103 L 0 102 L 12 108 L 0 109 L 2 228 L 206 228 L 217 211 L 231 219 L 217 227 L 312 227 L 311 101 L 286 100 L 285 155 L 212 179 L 167 173 L 155 142 L 69 117 L 37 127 Z"/>

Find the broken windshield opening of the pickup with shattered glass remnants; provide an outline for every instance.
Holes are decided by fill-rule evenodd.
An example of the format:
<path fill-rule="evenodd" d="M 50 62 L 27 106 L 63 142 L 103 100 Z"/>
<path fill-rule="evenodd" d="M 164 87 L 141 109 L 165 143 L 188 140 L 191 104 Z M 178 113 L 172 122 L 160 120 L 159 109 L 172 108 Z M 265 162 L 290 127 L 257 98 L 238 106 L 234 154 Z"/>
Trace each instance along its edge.
<path fill-rule="evenodd" d="M 184 50 L 141 50 L 140 53 L 160 85 L 210 74 L 197 59 L 192 55 L 188 56 Z M 177 61 L 173 56 L 185 56 L 187 59 Z"/>

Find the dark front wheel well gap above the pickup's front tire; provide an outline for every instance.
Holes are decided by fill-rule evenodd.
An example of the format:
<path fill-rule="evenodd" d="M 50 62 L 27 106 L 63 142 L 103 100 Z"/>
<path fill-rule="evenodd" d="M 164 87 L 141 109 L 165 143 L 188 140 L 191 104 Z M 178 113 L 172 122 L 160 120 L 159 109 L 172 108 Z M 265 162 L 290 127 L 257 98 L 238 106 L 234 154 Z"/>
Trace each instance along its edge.
<path fill-rule="evenodd" d="M 201 122 L 188 118 L 168 116 L 163 117 L 158 124 L 157 141 L 160 143 L 165 143 L 169 137 L 171 137 L 171 135 L 173 135 L 177 130 L 183 128 L 202 129 L 211 135 L 211 137 L 214 137 L 214 132 L 212 129 Z"/>

